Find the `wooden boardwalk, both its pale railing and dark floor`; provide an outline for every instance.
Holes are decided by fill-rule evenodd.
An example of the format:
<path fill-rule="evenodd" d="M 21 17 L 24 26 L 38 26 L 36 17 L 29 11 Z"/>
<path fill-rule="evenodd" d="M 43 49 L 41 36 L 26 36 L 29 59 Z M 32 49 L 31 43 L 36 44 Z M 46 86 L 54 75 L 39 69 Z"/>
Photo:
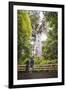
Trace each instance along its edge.
<path fill-rule="evenodd" d="M 18 80 L 56 78 L 58 76 L 57 64 L 34 65 L 33 71 L 26 72 L 26 65 L 18 65 Z"/>

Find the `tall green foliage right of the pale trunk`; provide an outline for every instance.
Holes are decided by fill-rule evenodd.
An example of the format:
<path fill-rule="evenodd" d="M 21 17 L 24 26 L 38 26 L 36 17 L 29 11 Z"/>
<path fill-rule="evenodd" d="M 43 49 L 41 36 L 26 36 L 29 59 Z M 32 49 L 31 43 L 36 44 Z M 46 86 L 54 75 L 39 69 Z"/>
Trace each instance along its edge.
<path fill-rule="evenodd" d="M 43 46 L 43 56 L 45 59 L 55 60 L 58 58 L 58 19 L 57 12 L 45 12 L 46 22 L 49 23 L 47 40 Z"/>

